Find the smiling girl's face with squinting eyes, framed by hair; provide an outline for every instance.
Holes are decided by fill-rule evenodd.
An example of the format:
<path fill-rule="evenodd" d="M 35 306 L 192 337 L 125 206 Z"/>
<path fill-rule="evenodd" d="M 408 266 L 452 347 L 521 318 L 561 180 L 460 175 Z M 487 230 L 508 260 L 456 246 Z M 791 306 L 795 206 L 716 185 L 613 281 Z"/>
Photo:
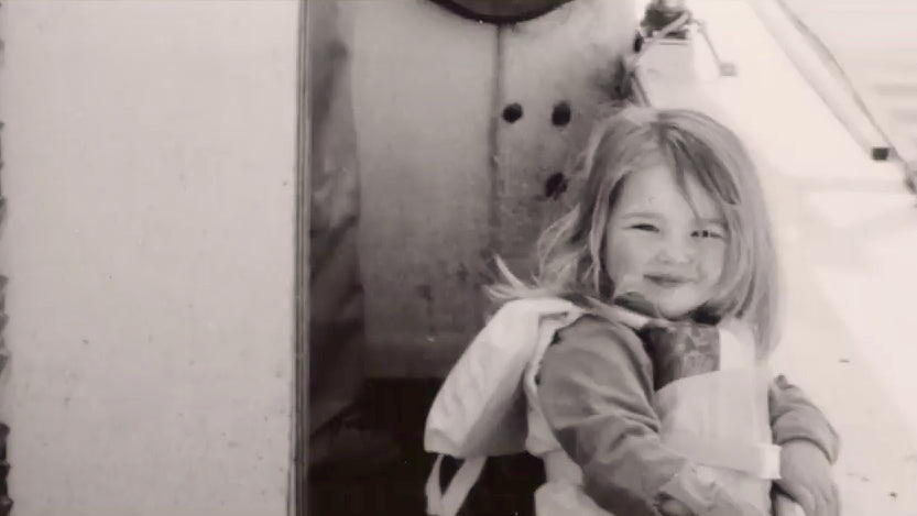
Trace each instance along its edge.
<path fill-rule="evenodd" d="M 605 228 L 615 293 L 637 293 L 668 319 L 713 297 L 729 239 L 717 204 L 690 174 L 686 182 L 687 197 L 667 166 L 635 171 L 621 185 Z"/>

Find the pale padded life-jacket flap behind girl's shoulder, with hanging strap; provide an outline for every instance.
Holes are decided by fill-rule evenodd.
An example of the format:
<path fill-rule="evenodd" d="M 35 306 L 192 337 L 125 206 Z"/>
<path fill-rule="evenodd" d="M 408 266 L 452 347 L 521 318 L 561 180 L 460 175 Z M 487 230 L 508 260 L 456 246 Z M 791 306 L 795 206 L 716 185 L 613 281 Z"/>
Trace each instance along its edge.
<path fill-rule="evenodd" d="M 525 384 L 534 391 L 534 375 L 554 333 L 582 314 L 558 298 L 513 300 L 465 350 L 427 416 L 424 448 L 439 454 L 427 480 L 427 514 L 455 516 L 488 457 L 533 451 L 526 442 L 531 404 Z M 556 441 L 545 447 L 560 448 Z M 444 455 L 465 460 L 445 491 L 439 485 Z"/>

